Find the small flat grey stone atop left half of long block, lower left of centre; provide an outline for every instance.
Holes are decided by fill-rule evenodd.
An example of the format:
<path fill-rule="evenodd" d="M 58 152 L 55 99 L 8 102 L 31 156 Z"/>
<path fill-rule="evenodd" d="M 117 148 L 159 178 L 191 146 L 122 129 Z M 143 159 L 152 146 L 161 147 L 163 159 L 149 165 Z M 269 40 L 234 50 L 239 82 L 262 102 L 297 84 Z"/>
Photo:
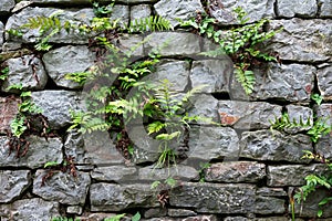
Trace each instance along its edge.
<path fill-rule="evenodd" d="M 91 172 L 92 179 L 100 181 L 127 181 L 137 179 L 137 168 L 122 165 L 97 167 Z"/>

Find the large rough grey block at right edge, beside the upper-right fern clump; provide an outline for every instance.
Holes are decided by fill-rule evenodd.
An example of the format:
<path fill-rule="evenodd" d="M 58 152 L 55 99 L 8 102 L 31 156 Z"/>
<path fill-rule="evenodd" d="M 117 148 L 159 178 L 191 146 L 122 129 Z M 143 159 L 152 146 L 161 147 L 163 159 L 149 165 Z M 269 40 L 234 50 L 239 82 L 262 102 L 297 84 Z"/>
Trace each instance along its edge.
<path fill-rule="evenodd" d="M 283 27 L 269 46 L 277 51 L 282 60 L 298 62 L 332 61 L 331 20 L 274 20 L 272 29 Z"/>

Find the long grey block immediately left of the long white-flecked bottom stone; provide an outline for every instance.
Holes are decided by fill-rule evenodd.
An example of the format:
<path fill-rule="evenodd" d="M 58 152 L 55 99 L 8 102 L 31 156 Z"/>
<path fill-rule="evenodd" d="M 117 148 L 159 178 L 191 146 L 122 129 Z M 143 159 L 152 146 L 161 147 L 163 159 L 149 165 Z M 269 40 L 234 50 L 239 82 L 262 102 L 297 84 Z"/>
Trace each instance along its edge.
<path fill-rule="evenodd" d="M 158 207 L 149 185 L 94 183 L 90 188 L 91 211 L 121 211 L 135 207 Z"/>

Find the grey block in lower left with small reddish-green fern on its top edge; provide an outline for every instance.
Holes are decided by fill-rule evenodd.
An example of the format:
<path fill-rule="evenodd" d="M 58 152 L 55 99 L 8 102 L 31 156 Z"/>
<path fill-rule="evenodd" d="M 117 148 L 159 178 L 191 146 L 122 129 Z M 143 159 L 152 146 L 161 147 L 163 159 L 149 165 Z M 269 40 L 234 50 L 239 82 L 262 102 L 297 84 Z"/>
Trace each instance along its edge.
<path fill-rule="evenodd" d="M 68 172 L 54 172 L 53 176 L 42 180 L 48 175 L 48 170 L 37 170 L 33 180 L 34 194 L 49 201 L 56 201 L 64 204 L 84 206 L 91 178 L 87 172 L 77 172 L 76 177 Z"/>

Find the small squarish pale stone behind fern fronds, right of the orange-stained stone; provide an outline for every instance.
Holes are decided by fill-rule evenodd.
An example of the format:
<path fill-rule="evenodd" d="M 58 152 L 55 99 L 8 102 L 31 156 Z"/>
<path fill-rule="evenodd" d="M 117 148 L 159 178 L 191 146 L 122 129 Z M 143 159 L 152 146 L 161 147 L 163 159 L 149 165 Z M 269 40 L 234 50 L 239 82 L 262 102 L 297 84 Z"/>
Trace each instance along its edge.
<path fill-rule="evenodd" d="M 309 125 L 307 126 L 298 126 L 298 127 L 291 127 L 291 128 L 286 128 L 284 130 L 287 133 L 299 133 L 299 131 L 304 131 L 304 130 L 309 130 L 313 124 L 313 112 L 311 108 L 309 107 L 303 107 L 303 106 L 299 106 L 299 105 L 287 105 L 286 106 L 288 116 L 290 122 L 297 122 L 297 124 L 300 124 L 301 122 L 303 124 L 307 124 L 308 120 Z"/>

